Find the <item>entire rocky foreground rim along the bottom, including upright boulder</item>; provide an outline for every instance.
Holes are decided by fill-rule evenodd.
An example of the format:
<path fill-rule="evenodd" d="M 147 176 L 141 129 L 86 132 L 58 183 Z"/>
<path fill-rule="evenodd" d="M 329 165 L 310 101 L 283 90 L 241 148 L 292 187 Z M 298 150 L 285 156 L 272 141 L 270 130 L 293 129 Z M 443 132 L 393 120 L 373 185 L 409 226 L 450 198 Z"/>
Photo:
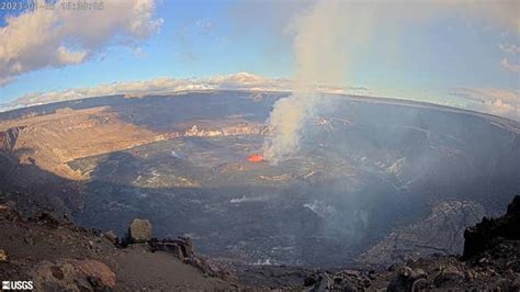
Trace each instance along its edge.
<path fill-rule="evenodd" d="M 520 291 L 520 196 L 507 214 L 464 233 L 464 255 L 432 256 L 387 269 L 310 270 L 245 266 L 196 255 L 190 238 L 151 238 L 135 220 L 127 236 L 87 231 L 45 213 L 23 220 L 0 205 L 0 278 L 41 291 L 307 290 Z"/>

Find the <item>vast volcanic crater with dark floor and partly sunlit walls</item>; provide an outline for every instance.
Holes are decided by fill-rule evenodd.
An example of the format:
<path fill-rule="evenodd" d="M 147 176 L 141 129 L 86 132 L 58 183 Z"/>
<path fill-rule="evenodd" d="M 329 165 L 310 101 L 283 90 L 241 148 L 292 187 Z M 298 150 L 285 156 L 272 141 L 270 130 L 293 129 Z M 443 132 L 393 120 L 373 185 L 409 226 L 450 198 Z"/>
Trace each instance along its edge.
<path fill-rule="evenodd" d="M 326 94 L 298 151 L 274 165 L 265 121 L 287 94 L 0 113 L 1 189 L 31 194 L 3 200 L 120 235 L 146 217 L 158 237 L 190 236 L 223 260 L 336 267 L 461 252 L 464 228 L 520 192 L 518 122 L 411 101 Z"/>

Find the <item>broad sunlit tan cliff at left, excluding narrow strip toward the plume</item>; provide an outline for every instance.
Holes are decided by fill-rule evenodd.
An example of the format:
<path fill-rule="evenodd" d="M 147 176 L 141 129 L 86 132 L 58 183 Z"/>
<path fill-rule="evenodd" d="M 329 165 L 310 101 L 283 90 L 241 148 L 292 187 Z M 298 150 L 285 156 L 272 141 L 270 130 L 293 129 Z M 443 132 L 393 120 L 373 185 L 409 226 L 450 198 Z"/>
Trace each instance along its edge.
<path fill-rule="evenodd" d="M 0 141 L 3 141 L 5 149 L 15 151 L 21 164 L 34 164 L 67 179 L 84 179 L 68 168 L 66 162 L 134 147 L 157 138 L 156 133 L 124 123 L 116 114 L 105 110 L 61 110 L 43 116 L 4 121 L 0 123 L 0 130 L 7 130 L 3 131 L 4 138 Z"/>

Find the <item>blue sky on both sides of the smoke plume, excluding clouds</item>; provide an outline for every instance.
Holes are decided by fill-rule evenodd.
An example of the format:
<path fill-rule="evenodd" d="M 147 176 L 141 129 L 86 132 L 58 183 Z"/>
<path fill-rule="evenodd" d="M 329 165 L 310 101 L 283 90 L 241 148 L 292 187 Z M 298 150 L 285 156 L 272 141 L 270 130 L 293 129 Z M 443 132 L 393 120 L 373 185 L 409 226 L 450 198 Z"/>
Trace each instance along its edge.
<path fill-rule="evenodd" d="M 292 78 L 294 35 L 286 27 L 292 18 L 313 4 L 156 1 L 151 19 L 162 20 L 160 29 L 124 42 L 110 36 L 102 45 L 88 47 L 88 57 L 78 64 L 50 64 L 11 76 L 11 81 L 0 88 L 0 103 L 32 92 L 157 77 L 248 71 L 267 78 Z M 4 30 L 9 29 L 9 14 L 0 11 Z M 451 94 L 454 89 L 504 90 L 512 92 L 510 103 L 518 104 L 519 72 L 501 61 L 507 58 L 508 64 L 518 65 L 520 54 L 500 49 L 504 45 L 518 49 L 520 38 L 513 26 L 440 13 L 396 30 L 398 33 L 383 23 L 358 50 L 352 48 L 355 54 L 350 54 L 344 65 L 344 85 L 368 87 L 377 96 L 455 105 L 465 100 Z M 0 48 L 2 42 L 11 41 L 0 40 Z"/>

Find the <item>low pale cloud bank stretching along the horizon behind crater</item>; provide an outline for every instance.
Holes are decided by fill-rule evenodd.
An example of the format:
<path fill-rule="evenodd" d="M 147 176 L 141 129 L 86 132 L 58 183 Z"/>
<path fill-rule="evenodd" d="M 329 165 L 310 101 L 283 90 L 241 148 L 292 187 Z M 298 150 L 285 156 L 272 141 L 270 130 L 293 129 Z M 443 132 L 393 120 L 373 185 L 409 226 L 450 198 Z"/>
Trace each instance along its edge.
<path fill-rule="evenodd" d="M 331 85 L 314 85 L 308 86 L 308 92 L 314 92 L 317 96 L 321 93 L 374 96 L 374 93 L 376 93 L 370 88 L 359 86 L 341 87 Z M 143 97 L 148 94 L 168 94 L 190 90 L 196 91 L 226 89 L 251 91 L 292 91 L 294 89 L 294 81 L 285 78 L 265 78 L 248 72 L 190 79 L 156 78 L 144 81 L 113 82 L 90 88 L 72 88 L 60 91 L 34 92 L 25 94 L 10 103 L 0 104 L 0 111 L 113 94 Z M 465 104 L 462 106 L 464 109 L 520 121 L 520 90 L 518 89 L 505 90 L 494 88 L 454 88 L 450 91 L 450 94 L 465 101 Z M 377 93 L 376 96 L 384 97 L 384 94 L 381 93 Z M 294 109 L 298 109 L 296 112 L 305 112 L 305 110 L 299 109 L 299 106 L 309 104 L 306 100 L 307 98 L 308 97 L 305 94 L 301 94 L 296 96 L 296 98 L 289 99 L 289 101 L 287 99 L 282 99 L 281 102 L 286 102 L 286 104 L 280 109 L 287 106 L 290 109 L 287 114 L 291 114 L 291 111 Z M 314 98 L 312 97 L 310 99 Z M 460 106 L 461 105 L 459 105 L 459 108 Z M 280 115 L 280 119 L 282 119 L 280 123 L 283 124 L 285 117 Z M 297 147 L 297 145 L 295 147 Z"/>

